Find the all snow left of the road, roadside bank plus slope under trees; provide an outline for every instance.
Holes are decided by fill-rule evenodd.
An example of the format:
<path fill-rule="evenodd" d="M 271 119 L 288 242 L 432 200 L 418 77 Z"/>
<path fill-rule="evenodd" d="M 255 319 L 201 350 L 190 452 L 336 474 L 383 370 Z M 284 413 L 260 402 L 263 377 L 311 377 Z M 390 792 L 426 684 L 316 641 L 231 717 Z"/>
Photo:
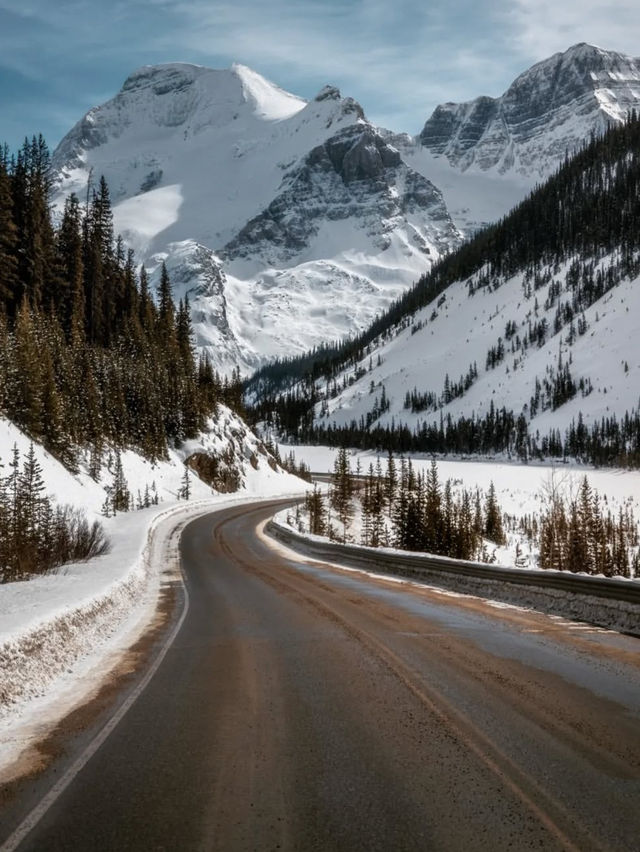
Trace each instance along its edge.
<path fill-rule="evenodd" d="M 14 446 L 26 454 L 30 442 L 0 419 L 0 460 Z M 158 505 L 101 516 L 105 487 L 86 473 L 72 475 L 35 445 L 48 493 L 58 502 L 86 510 L 103 523 L 110 550 L 82 563 L 63 565 L 42 576 L 0 585 L 0 771 L 9 771 L 29 744 L 96 689 L 128 647 L 148 629 L 163 583 L 179 576 L 178 531 L 187 520 L 227 505 L 300 494 L 304 483 L 267 457 L 260 442 L 228 409 L 220 407 L 199 438 L 151 464 L 122 453 L 129 490 L 135 496 L 153 484 Z M 237 494 L 216 494 L 195 474 L 191 498 L 177 499 L 184 477 L 182 459 L 196 452 L 228 454 L 241 471 Z"/>

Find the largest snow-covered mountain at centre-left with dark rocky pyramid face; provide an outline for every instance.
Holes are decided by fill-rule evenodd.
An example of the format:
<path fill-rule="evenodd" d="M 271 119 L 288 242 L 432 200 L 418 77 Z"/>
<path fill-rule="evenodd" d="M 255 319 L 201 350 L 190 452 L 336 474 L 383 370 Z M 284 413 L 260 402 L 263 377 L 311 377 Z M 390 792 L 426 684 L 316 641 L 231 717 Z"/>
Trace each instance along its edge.
<path fill-rule="evenodd" d="M 58 204 L 106 177 L 116 232 L 152 276 L 166 261 L 223 368 L 362 329 L 461 239 L 354 100 L 307 103 L 240 65 L 136 71 L 53 165 Z"/>

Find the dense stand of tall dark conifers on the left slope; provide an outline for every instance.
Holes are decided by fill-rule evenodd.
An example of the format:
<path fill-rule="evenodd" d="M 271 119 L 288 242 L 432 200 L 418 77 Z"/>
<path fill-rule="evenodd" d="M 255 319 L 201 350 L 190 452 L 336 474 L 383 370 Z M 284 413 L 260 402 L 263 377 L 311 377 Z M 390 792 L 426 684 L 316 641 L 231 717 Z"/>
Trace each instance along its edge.
<path fill-rule="evenodd" d="M 218 402 L 241 407 L 239 375 L 197 358 L 189 304 L 166 267 L 154 300 L 144 267 L 114 236 L 104 178 L 50 214 L 42 137 L 0 151 L 0 412 L 63 461 L 109 447 L 146 458 L 194 437 Z"/>

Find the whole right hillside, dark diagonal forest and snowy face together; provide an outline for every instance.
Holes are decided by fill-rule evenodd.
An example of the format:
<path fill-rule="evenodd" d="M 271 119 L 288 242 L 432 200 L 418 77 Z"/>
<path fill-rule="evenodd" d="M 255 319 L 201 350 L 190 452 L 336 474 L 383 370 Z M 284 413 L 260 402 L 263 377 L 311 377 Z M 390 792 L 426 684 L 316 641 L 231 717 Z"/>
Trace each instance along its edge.
<path fill-rule="evenodd" d="M 639 151 L 637 118 L 610 129 L 358 340 L 260 371 L 258 416 L 298 439 L 363 446 L 478 449 L 488 430 L 485 450 L 519 442 L 527 454 L 562 454 L 581 417 L 608 458 L 640 461 Z M 633 409 L 628 428 L 601 428 Z"/>

